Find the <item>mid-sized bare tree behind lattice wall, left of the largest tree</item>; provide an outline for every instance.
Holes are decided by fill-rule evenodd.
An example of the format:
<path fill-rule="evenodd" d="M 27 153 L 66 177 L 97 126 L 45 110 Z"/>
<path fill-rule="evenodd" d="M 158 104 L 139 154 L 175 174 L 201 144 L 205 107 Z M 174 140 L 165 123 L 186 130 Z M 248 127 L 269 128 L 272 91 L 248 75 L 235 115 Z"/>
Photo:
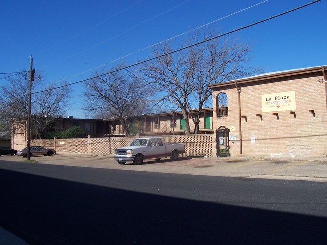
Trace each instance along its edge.
<path fill-rule="evenodd" d="M 119 118 L 122 129 L 129 136 L 128 120 L 140 115 L 149 101 L 150 91 L 140 81 L 132 80 L 126 71 L 112 69 L 109 74 L 94 78 L 85 85 L 85 110 L 91 114 L 105 113 Z M 107 72 L 108 73 L 108 72 Z M 103 73 L 102 73 L 103 74 Z"/>

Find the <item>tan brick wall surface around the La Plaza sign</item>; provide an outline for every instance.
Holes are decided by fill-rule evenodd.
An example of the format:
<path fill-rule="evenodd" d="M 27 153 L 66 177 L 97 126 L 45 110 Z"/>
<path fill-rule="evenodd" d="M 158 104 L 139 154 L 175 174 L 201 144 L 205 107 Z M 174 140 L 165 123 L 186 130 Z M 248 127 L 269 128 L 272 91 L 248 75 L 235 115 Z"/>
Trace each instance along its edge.
<path fill-rule="evenodd" d="M 269 82 L 240 84 L 242 153 L 240 154 L 238 94 L 235 87 L 221 87 L 213 91 L 214 129 L 221 125 L 235 131 L 231 141 L 231 156 L 301 158 L 327 156 L 327 112 L 325 84 L 319 76 L 301 75 L 278 78 Z M 284 81 L 284 80 L 285 81 Z M 295 91 L 296 118 L 290 111 L 262 112 L 261 95 Z M 228 117 L 216 118 L 215 98 L 224 92 L 228 96 Z M 314 110 L 315 116 L 309 112 Z M 256 114 L 262 115 L 262 120 Z M 252 138 L 254 137 L 254 138 Z M 251 141 L 255 139 L 255 143 Z M 234 143 L 233 143 L 234 142 Z"/>

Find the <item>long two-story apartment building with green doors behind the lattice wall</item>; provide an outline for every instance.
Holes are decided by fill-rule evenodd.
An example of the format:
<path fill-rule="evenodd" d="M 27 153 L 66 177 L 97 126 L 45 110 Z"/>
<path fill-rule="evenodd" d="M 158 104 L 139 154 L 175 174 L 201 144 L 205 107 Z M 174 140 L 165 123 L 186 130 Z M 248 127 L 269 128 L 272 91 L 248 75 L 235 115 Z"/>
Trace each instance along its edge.
<path fill-rule="evenodd" d="M 193 111 L 195 113 L 195 110 Z M 213 133 L 212 128 L 212 108 L 204 108 L 200 115 L 199 134 Z M 150 135 L 184 135 L 185 121 L 181 111 L 162 112 L 160 114 L 143 114 L 133 116 L 127 120 L 131 135 L 139 134 L 140 136 Z M 189 115 L 191 131 L 194 130 L 194 124 Z M 86 135 L 92 138 L 101 137 L 119 137 L 125 136 L 122 125 L 118 118 L 111 119 L 79 119 L 68 116 L 63 118 L 58 116 L 53 119 L 51 127 L 48 127 L 44 134 L 49 132 L 58 132 L 63 129 L 69 129 L 72 126 L 79 126 L 85 131 Z M 33 139 L 34 137 L 32 137 Z M 21 149 L 26 146 L 27 140 L 27 123 L 18 127 L 15 123 L 12 126 L 11 145 L 14 149 Z M 66 140 L 67 141 L 67 140 Z M 74 140 L 73 140 L 74 141 Z M 43 143 L 39 143 L 45 146 Z M 208 147 L 204 146 L 204 149 Z M 210 151 L 211 154 L 211 151 Z"/>

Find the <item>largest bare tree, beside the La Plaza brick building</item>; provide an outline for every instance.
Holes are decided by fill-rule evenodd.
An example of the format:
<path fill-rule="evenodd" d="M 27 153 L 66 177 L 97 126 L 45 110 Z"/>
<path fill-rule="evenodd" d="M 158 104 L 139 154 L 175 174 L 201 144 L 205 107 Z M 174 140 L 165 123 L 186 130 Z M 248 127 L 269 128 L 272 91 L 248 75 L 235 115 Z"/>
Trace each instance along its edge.
<path fill-rule="evenodd" d="M 215 33 L 203 35 L 203 40 L 214 37 Z M 185 46 L 198 43 L 195 33 L 185 42 Z M 208 85 L 237 79 L 258 72 L 247 67 L 250 60 L 250 48 L 246 44 L 238 44 L 231 38 L 213 39 L 192 46 L 177 53 L 172 52 L 172 44 L 164 43 L 154 48 L 158 58 L 143 63 L 137 75 L 156 90 L 163 91 L 164 99 L 182 111 L 185 120 L 185 134 L 190 134 L 189 117 L 195 124 L 194 133 L 199 132 L 199 121 L 202 108 L 211 97 Z M 191 113 L 192 108 L 196 107 Z"/>

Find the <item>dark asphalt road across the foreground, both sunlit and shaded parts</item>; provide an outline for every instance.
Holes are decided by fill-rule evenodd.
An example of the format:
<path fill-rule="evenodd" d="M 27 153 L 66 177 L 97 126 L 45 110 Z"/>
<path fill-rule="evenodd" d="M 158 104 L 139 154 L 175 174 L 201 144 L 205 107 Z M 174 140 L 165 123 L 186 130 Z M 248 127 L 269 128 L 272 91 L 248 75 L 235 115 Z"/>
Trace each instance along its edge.
<path fill-rule="evenodd" d="M 0 160 L 0 179 L 0 225 L 29 244 L 325 244 L 327 240 L 327 183 L 323 182 L 4 160 Z"/>

